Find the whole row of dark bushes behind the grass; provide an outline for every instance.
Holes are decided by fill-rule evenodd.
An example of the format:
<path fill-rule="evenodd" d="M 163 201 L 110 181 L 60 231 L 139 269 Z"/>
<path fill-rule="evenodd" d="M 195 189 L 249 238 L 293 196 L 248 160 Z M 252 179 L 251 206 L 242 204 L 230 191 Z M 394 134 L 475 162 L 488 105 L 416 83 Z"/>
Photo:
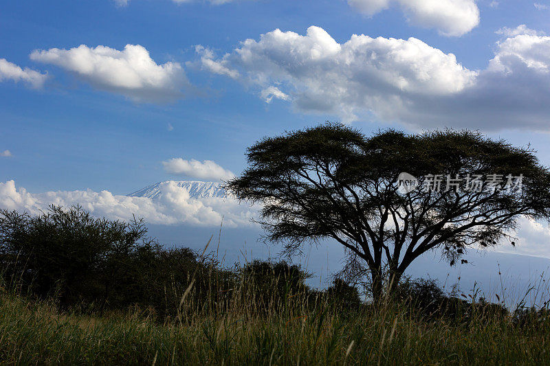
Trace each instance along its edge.
<path fill-rule="evenodd" d="M 51 206 L 37 216 L 0 211 L 0 277 L 20 292 L 54 299 L 61 308 L 103 312 L 135 306 L 159 319 L 181 320 L 182 311 L 225 312 L 234 306 L 265 313 L 327 304 L 356 310 L 362 303 L 357 288 L 343 279 L 320 292 L 305 284 L 311 275 L 298 265 L 255 260 L 225 269 L 213 255 L 166 249 L 146 234 L 142 220 L 94 218 L 81 207 Z M 430 317 L 463 321 L 474 310 L 474 304 L 448 297 L 431 279 L 401 282 L 394 299 Z M 507 313 L 481 300 L 475 310 Z M 525 323 L 529 317 L 518 313 L 516 318 Z"/>

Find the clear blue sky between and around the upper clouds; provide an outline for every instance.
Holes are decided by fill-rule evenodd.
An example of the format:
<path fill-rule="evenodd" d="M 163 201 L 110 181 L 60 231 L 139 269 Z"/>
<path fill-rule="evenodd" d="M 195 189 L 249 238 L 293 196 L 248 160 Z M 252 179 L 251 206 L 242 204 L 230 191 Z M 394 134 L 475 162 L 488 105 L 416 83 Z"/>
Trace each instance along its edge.
<path fill-rule="evenodd" d="M 173 157 L 210 159 L 239 172 L 245 147 L 263 135 L 342 118 L 334 113 L 296 113 L 282 100 L 266 104 L 257 88 L 187 66 L 199 58 L 193 46 L 210 47 L 223 55 L 241 41 L 258 40 L 277 28 L 303 35 L 307 27 L 316 25 L 338 43 L 352 34 L 419 38 L 476 70 L 487 67 L 494 56 L 495 43 L 502 38 L 495 32 L 501 27 L 525 24 L 550 31 L 550 12 L 538 10 L 533 1 L 489 3 L 476 2 L 480 23 L 472 31 L 443 36 L 436 29 L 410 25 L 398 6 L 369 17 L 346 1 L 250 0 L 215 5 L 132 0 L 126 6 L 111 0 L 3 1 L 0 58 L 47 72 L 49 78 L 38 90 L 24 82 L 0 82 L 0 149 L 12 153 L 9 159 L 0 159 L 0 180 L 14 179 L 30 192 L 90 188 L 125 194 L 173 178 L 160 164 Z M 135 102 L 29 57 L 34 49 L 104 45 L 122 50 L 126 44 L 142 45 L 159 65 L 178 62 L 197 90 L 170 102 Z M 367 115 L 353 124 L 367 131 L 400 126 Z M 484 130 L 483 125 L 479 128 Z M 550 161 L 546 134 L 493 128 L 487 132 L 517 144 L 530 141 L 541 159 Z"/>

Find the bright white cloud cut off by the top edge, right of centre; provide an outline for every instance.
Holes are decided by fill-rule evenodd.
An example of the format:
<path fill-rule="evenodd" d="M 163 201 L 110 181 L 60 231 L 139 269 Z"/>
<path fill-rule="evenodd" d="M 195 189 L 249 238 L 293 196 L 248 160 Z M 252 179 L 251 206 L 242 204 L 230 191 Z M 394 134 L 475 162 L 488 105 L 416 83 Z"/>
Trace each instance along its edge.
<path fill-rule="evenodd" d="M 474 0 L 348 0 L 348 3 L 367 16 L 399 6 L 410 23 L 435 28 L 445 36 L 462 36 L 479 24 L 479 9 Z"/>

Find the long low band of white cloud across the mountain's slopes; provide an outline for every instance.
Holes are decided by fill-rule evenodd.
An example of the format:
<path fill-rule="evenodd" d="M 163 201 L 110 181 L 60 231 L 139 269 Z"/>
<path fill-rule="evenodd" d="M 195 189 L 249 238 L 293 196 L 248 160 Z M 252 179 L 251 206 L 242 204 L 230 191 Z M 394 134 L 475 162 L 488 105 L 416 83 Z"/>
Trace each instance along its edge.
<path fill-rule="evenodd" d="M 133 214 L 146 222 L 159 225 L 188 224 L 203 227 L 223 225 L 241 227 L 252 225 L 249 218 L 256 214 L 254 208 L 241 205 L 231 197 L 193 198 L 188 190 L 176 182 L 159 185 L 155 198 L 119 196 L 109 191 L 58 191 L 31 194 L 14 181 L 0 183 L 0 209 L 27 211 L 39 214 L 48 205 L 81 205 L 98 217 L 113 220 L 131 220 Z"/>

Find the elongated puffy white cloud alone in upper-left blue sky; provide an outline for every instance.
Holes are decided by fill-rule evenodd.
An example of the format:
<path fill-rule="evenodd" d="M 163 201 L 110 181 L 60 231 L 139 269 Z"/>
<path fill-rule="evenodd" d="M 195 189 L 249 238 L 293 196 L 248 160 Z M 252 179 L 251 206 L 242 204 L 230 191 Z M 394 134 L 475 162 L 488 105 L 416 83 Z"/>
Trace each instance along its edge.
<path fill-rule="evenodd" d="M 30 58 L 61 67 L 98 89 L 120 93 L 136 101 L 175 100 L 191 89 L 179 63 L 157 65 L 140 45 L 126 45 L 122 51 L 86 45 L 72 49 L 52 48 L 36 50 Z"/>

